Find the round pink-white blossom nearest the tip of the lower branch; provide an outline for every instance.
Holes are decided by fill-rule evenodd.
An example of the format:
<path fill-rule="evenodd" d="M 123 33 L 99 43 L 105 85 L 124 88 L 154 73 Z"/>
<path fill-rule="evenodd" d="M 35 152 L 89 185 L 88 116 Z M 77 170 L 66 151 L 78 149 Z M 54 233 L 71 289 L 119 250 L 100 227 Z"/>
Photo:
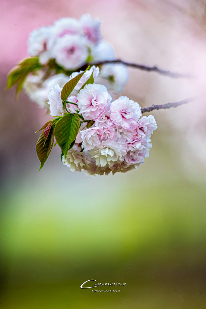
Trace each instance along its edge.
<path fill-rule="evenodd" d="M 110 109 L 110 119 L 115 125 L 131 131 L 136 129 L 137 121 L 141 117 L 141 108 L 137 102 L 121 96 L 111 103 Z"/>

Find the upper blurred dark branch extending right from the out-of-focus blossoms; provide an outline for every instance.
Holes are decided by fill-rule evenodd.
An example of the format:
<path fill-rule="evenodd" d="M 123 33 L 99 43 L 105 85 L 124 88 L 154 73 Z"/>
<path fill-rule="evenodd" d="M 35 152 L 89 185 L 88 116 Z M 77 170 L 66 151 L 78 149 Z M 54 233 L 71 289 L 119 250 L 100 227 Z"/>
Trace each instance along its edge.
<path fill-rule="evenodd" d="M 147 72 L 156 72 L 158 74 L 170 76 L 172 78 L 187 78 L 187 79 L 195 79 L 196 78 L 194 75 L 189 74 L 189 73 L 187 73 L 187 74 L 174 73 L 174 72 L 159 69 L 157 66 L 143 66 L 143 65 L 140 65 L 140 64 L 136 64 L 136 63 L 126 62 L 126 61 L 123 61 L 121 59 L 94 62 L 94 63 L 91 63 L 90 66 L 101 66 L 103 64 L 108 64 L 108 63 L 121 63 L 121 64 L 124 64 L 125 66 L 129 66 L 131 68 L 136 68 L 136 69 L 139 69 L 139 70 L 142 70 L 142 71 L 147 71 Z M 84 66 L 80 69 L 83 70 L 83 68 L 84 68 Z M 78 69 L 78 70 L 80 70 L 80 69 Z"/>

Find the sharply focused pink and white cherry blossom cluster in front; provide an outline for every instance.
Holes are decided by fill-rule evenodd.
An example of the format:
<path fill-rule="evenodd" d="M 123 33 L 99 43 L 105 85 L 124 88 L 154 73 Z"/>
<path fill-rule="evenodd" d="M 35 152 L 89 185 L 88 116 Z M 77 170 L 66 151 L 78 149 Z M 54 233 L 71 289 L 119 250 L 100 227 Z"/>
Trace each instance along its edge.
<path fill-rule="evenodd" d="M 93 72 L 92 67 L 82 76 L 76 89 L 80 89 Z M 76 76 L 79 72 L 73 73 Z M 48 94 L 51 116 L 63 114 L 61 87 L 55 85 Z M 68 112 L 82 117 L 74 146 L 68 151 L 65 164 L 71 171 L 89 175 L 108 175 L 137 169 L 149 155 L 151 134 L 157 129 L 152 115 L 142 116 L 137 102 L 120 96 L 112 102 L 107 88 L 101 84 L 87 84 L 77 96 L 67 99 Z M 88 125 L 91 124 L 89 127 Z"/>

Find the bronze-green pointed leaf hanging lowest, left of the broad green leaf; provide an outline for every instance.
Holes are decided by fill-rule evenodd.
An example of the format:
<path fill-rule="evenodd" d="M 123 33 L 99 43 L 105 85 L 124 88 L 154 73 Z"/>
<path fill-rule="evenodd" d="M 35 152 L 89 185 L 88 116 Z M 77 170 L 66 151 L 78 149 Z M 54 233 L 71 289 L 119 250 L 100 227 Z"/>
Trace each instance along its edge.
<path fill-rule="evenodd" d="M 41 133 L 36 143 L 36 154 L 41 163 L 39 171 L 42 169 L 44 163 L 48 159 L 48 156 L 53 147 L 53 143 L 54 143 L 54 128 L 50 130 L 46 141 L 43 132 Z"/>

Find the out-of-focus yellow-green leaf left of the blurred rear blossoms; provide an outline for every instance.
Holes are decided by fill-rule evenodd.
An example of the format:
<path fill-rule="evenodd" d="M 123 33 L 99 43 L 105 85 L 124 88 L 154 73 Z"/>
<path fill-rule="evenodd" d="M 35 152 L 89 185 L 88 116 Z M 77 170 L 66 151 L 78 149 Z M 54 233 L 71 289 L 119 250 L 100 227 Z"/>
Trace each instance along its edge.
<path fill-rule="evenodd" d="M 41 69 L 43 66 L 39 63 L 38 57 L 31 57 L 24 59 L 22 62 L 19 63 L 19 65 L 13 69 L 7 78 L 6 82 L 6 90 L 13 87 L 15 84 L 17 84 L 16 88 L 16 98 L 18 98 L 18 94 L 22 90 L 23 83 L 25 82 L 25 79 L 27 78 L 29 73 L 33 73 L 36 70 Z"/>

